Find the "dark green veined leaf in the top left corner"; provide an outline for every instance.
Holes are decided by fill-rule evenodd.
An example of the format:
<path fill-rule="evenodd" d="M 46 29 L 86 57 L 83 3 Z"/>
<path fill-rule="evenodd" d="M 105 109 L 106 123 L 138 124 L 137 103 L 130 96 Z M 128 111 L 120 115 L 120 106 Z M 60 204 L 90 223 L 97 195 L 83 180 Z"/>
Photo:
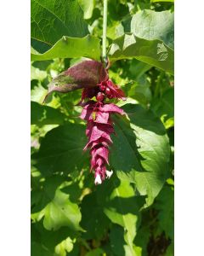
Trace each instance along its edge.
<path fill-rule="evenodd" d="M 77 0 L 31 0 L 31 38 L 39 51 L 52 47 L 59 38 L 82 38 L 88 34 Z"/>

